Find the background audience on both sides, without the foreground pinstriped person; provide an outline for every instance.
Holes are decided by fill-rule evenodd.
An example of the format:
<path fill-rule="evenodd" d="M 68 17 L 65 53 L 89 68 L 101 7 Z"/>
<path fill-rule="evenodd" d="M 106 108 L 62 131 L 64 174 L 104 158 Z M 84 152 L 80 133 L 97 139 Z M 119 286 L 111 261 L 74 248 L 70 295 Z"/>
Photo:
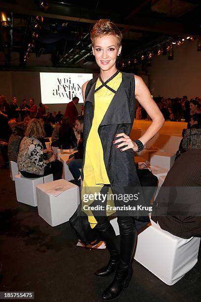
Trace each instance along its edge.
<path fill-rule="evenodd" d="M 189 149 L 201 149 L 201 97 L 188 100 L 155 98 L 165 120 L 186 121 L 187 129 L 183 130 L 177 157 Z M 9 161 L 18 164 L 19 171 L 24 177 L 41 177 L 53 174 L 54 180 L 62 178 L 63 165 L 57 160 L 53 149 L 75 149 L 67 165 L 74 178 L 74 183 L 80 186 L 80 170 L 83 163 L 83 115 L 78 115 L 76 105 L 79 99 L 74 97 L 67 104 L 63 115 L 61 111 L 47 112 L 47 106 L 34 99 L 26 99 L 18 105 L 16 97 L 12 104 L 0 95 L 0 151 L 3 158 L 1 168 L 6 168 Z M 146 111 L 139 105 L 135 111 L 136 119 L 150 119 Z M 76 134 L 76 135 L 75 135 Z M 77 142 L 77 135 L 80 139 Z M 51 149 L 47 150 L 44 138 L 51 137 Z M 176 157 L 176 158 L 177 158 Z"/>

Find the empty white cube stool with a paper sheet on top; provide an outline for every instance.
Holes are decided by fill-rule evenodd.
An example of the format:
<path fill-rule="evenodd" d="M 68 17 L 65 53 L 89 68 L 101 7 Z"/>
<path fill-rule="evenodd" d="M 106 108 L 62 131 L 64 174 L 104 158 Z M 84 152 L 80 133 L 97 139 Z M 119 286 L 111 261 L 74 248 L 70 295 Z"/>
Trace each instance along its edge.
<path fill-rule="evenodd" d="M 56 188 L 68 187 L 55 197 L 47 192 Z M 69 220 L 79 204 L 79 187 L 60 179 L 51 183 L 37 185 L 38 215 L 50 226 L 55 227 Z"/>

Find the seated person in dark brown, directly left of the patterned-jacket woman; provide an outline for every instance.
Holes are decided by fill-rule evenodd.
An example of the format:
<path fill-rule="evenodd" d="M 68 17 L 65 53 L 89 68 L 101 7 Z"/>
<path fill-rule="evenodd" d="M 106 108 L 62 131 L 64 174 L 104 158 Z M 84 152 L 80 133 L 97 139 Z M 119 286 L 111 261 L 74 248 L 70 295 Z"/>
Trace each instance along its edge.
<path fill-rule="evenodd" d="M 25 126 L 24 122 L 15 124 L 14 131 L 8 141 L 8 160 L 17 162 L 18 151 L 20 142 L 24 137 Z"/>

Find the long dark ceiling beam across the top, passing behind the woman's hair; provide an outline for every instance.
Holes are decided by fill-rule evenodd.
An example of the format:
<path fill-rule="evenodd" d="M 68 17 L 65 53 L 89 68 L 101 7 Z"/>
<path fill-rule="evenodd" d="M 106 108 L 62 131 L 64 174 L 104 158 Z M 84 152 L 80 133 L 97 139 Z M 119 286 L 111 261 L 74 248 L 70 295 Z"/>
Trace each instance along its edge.
<path fill-rule="evenodd" d="M 72 7 L 70 5 L 58 5 L 49 3 L 46 12 L 43 12 L 34 3 L 33 0 L 16 0 L 16 4 L 10 4 L 0 1 L 0 10 L 20 13 L 25 15 L 43 16 L 53 19 L 61 19 L 67 21 L 84 22 L 89 24 L 96 23 L 97 19 L 109 17 L 119 28 L 126 28 L 138 31 L 156 32 L 166 35 L 186 36 L 199 35 L 199 29 L 192 24 L 171 23 L 166 21 L 159 21 L 151 18 L 136 18 L 131 20 L 130 24 L 118 23 L 120 18 L 118 13 L 103 12 L 97 9 L 88 9 L 81 7 Z M 108 16 L 109 15 L 109 16 Z M 93 16 L 94 19 L 91 19 Z"/>

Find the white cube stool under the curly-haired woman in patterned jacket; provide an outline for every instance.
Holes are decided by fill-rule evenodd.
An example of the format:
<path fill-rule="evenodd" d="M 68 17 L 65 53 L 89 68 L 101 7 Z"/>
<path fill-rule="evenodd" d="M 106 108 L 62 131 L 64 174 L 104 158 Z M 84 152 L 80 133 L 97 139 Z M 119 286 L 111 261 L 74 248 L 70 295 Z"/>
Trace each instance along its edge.
<path fill-rule="evenodd" d="M 37 207 L 37 198 L 35 187 L 38 184 L 53 181 L 53 175 L 47 175 L 38 178 L 26 178 L 21 174 L 15 176 L 15 190 L 18 202 L 26 203 L 33 207 Z"/>

